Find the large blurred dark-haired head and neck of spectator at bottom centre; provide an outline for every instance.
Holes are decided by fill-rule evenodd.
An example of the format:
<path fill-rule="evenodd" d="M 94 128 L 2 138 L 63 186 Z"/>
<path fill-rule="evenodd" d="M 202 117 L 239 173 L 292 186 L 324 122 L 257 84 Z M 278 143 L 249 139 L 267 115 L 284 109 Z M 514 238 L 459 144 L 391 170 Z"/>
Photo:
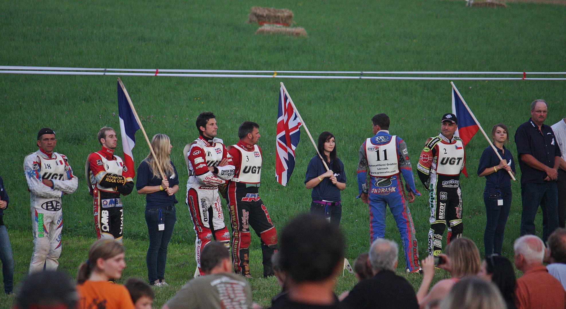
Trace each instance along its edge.
<path fill-rule="evenodd" d="M 334 294 L 336 277 L 344 265 L 344 235 L 338 225 L 302 214 L 286 225 L 279 243 L 288 293 L 272 308 L 341 308 Z"/>

